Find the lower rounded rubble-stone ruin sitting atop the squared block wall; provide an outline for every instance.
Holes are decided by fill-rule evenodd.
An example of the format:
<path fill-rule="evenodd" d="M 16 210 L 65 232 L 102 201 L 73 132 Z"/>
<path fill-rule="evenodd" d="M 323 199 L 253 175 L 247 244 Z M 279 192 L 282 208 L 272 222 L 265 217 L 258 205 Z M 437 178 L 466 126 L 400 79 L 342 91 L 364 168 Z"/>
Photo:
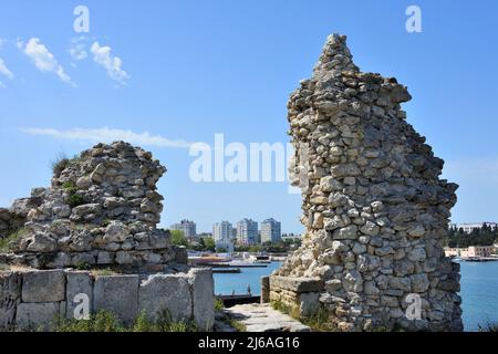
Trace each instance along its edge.
<path fill-rule="evenodd" d="M 165 171 L 151 153 L 123 142 L 60 163 L 50 188 L 0 209 L 0 233 L 18 236 L 0 263 L 159 271 L 186 264 L 186 251 L 156 228 L 163 210 L 156 183 Z"/>

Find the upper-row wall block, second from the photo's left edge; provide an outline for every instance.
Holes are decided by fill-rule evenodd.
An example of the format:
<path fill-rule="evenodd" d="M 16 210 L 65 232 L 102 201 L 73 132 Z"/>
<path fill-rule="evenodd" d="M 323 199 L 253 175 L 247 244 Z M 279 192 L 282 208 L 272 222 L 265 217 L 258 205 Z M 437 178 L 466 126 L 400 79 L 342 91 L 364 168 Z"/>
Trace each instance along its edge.
<path fill-rule="evenodd" d="M 22 302 L 60 302 L 65 299 L 62 270 L 32 271 L 23 274 Z"/>

